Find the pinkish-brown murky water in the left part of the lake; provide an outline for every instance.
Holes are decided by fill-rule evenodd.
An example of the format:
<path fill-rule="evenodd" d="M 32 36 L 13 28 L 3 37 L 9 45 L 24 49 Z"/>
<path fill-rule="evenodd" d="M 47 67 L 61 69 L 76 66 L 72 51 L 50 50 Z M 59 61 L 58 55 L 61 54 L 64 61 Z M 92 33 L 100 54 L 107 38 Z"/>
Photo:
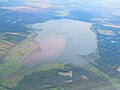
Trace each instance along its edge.
<path fill-rule="evenodd" d="M 39 61 L 44 62 L 53 59 L 62 53 L 66 44 L 64 37 L 61 36 L 40 38 L 38 35 L 35 40 L 40 44 L 41 50 L 27 56 L 24 61 L 25 64 L 36 64 Z"/>

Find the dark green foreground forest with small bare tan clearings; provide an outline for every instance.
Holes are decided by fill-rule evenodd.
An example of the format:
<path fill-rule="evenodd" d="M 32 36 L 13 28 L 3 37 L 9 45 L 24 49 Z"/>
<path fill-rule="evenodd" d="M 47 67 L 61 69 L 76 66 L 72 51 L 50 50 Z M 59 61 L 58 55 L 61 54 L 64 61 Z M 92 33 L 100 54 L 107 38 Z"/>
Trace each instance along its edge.
<path fill-rule="evenodd" d="M 104 77 L 85 68 L 65 65 L 26 75 L 12 90 L 116 90 Z"/>

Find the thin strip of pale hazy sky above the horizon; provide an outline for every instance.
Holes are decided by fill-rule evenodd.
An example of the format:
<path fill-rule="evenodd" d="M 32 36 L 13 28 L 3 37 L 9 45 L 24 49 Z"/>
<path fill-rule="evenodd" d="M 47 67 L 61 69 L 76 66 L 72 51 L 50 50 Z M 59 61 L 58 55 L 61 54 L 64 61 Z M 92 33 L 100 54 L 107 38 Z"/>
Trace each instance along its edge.
<path fill-rule="evenodd" d="M 68 2 L 68 3 L 95 3 L 101 5 L 120 5 L 120 0 L 0 0 L 0 2 L 17 2 L 25 4 L 49 3 L 49 2 Z"/>

